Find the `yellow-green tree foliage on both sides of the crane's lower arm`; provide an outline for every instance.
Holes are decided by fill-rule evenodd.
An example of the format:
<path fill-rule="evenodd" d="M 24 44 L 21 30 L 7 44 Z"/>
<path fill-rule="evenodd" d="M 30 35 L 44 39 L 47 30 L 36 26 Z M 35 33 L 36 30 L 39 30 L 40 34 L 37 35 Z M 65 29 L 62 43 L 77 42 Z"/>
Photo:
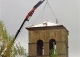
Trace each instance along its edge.
<path fill-rule="evenodd" d="M 0 55 L 3 55 L 3 57 L 16 57 L 17 55 L 27 57 L 27 53 L 20 43 L 13 45 L 13 38 L 7 33 L 3 22 L 0 20 Z M 11 46 L 12 48 L 10 48 Z"/>

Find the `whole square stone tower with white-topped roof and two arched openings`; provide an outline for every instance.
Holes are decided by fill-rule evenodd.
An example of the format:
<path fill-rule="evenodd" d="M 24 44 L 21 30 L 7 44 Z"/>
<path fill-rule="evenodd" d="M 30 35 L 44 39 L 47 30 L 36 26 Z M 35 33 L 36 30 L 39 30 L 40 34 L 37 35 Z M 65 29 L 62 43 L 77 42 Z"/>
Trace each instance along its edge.
<path fill-rule="evenodd" d="M 43 22 L 26 28 L 29 32 L 29 57 L 50 57 L 57 49 L 58 57 L 68 57 L 68 30 L 60 24 Z M 54 43 L 54 44 L 53 44 Z"/>

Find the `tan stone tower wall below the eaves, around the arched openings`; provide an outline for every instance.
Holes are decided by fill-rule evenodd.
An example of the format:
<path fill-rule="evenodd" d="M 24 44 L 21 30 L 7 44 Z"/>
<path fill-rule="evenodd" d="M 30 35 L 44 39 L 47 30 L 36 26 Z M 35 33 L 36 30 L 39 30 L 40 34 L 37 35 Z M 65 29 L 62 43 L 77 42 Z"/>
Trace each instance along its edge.
<path fill-rule="evenodd" d="M 49 55 L 49 40 L 55 39 L 58 49 L 58 57 L 68 57 L 68 32 L 66 29 L 32 29 L 29 30 L 29 56 L 37 56 L 37 41 L 42 40 L 44 46 L 44 56 Z"/>

